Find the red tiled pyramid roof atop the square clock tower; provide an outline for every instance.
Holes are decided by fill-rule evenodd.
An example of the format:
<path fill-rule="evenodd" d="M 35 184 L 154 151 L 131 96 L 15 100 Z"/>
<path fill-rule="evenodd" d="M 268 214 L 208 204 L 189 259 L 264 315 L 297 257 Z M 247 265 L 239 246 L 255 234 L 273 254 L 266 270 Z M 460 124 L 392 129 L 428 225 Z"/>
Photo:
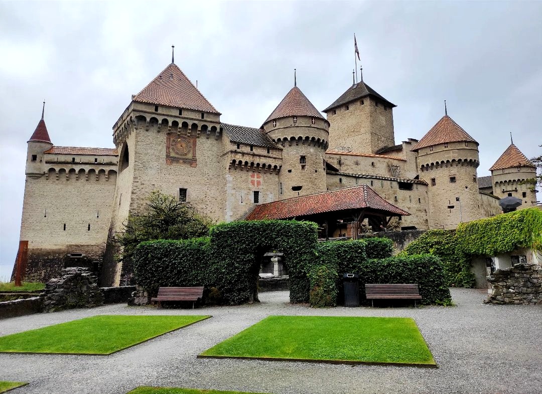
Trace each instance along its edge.
<path fill-rule="evenodd" d="M 175 63 L 168 65 L 133 100 L 220 114 Z"/>

